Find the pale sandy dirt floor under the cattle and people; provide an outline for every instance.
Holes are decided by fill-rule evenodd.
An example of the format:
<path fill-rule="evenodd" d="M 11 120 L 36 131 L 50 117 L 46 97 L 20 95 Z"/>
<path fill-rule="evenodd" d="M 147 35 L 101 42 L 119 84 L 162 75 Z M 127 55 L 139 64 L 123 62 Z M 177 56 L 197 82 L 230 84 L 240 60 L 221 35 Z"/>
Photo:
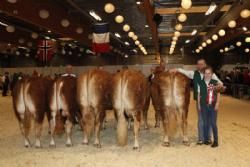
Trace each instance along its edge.
<path fill-rule="evenodd" d="M 189 147 L 180 136 L 171 139 L 171 147 L 161 146 L 162 128 L 153 128 L 154 110 L 149 111 L 150 130 L 140 132 L 140 151 L 134 151 L 133 133 L 129 144 L 116 146 L 115 121 L 108 115 L 107 129 L 101 132 L 102 148 L 81 144 L 82 132 L 75 127 L 74 146 L 65 147 L 65 136 L 57 136 L 56 148 L 49 148 L 47 121 L 44 122 L 42 149 L 24 148 L 11 97 L 0 97 L 0 167 L 249 167 L 250 166 L 250 101 L 222 97 L 219 111 L 219 144 L 216 149 L 197 146 L 197 116 L 194 102 L 189 110 Z M 34 130 L 32 131 L 34 132 Z M 32 140 L 34 143 L 34 133 Z M 93 143 L 93 142 L 92 142 Z"/>

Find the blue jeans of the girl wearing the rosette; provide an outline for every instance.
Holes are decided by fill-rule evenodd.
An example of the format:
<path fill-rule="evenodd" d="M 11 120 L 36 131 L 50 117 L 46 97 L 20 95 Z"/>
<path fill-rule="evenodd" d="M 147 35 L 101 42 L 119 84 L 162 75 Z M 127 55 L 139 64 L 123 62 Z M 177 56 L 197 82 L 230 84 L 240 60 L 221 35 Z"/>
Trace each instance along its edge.
<path fill-rule="evenodd" d="M 204 141 L 210 140 L 210 127 L 212 127 L 214 142 L 218 143 L 217 111 L 214 106 L 202 105 L 201 115 L 203 119 Z"/>

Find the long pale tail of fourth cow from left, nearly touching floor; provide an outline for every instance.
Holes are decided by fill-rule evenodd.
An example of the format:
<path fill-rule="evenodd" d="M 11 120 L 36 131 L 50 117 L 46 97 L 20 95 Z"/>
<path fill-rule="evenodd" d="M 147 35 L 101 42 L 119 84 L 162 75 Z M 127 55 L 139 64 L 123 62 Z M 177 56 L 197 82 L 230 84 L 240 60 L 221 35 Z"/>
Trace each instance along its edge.
<path fill-rule="evenodd" d="M 124 111 L 124 95 L 126 91 L 126 72 L 121 74 L 120 78 L 120 88 L 118 88 L 119 92 L 119 100 L 120 100 L 120 109 L 118 111 L 118 123 L 117 123 L 117 144 L 119 146 L 127 145 L 128 141 L 128 123 L 125 118 L 125 111 Z"/>

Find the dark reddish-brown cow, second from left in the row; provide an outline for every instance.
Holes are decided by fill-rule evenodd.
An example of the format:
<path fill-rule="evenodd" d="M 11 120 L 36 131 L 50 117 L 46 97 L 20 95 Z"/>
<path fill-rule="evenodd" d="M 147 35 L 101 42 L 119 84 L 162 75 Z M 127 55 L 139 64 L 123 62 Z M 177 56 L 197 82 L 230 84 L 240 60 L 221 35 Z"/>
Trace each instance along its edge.
<path fill-rule="evenodd" d="M 74 76 L 63 76 L 57 78 L 50 89 L 49 107 L 50 107 L 50 128 L 51 140 L 50 146 L 55 147 L 54 135 L 66 131 L 66 146 L 72 146 L 72 127 L 78 114 L 78 105 L 76 100 L 76 81 Z M 79 118 L 79 117 L 78 117 Z M 65 125 L 65 128 L 64 126 Z"/>

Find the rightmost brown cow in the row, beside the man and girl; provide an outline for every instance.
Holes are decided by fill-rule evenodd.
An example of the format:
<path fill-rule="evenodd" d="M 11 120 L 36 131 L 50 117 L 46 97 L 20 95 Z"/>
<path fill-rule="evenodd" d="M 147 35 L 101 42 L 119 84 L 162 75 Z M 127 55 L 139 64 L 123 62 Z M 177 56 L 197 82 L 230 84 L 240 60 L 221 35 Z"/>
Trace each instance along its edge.
<path fill-rule="evenodd" d="M 155 94 L 164 129 L 163 146 L 170 146 L 169 134 L 176 129 L 181 119 L 183 143 L 189 145 L 187 137 L 187 116 L 190 102 L 190 80 L 180 73 L 162 72 L 154 81 Z"/>

